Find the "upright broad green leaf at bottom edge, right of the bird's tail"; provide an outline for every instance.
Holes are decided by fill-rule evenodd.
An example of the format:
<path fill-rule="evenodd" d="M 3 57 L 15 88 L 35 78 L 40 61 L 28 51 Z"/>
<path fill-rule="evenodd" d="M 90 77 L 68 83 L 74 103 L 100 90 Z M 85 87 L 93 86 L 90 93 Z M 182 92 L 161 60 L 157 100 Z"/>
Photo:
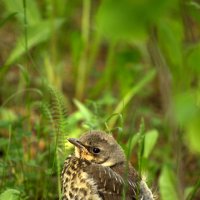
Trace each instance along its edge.
<path fill-rule="evenodd" d="M 174 172 L 164 166 L 159 178 L 159 188 L 161 200 L 178 200 L 178 194 L 176 190 L 176 176 Z"/>

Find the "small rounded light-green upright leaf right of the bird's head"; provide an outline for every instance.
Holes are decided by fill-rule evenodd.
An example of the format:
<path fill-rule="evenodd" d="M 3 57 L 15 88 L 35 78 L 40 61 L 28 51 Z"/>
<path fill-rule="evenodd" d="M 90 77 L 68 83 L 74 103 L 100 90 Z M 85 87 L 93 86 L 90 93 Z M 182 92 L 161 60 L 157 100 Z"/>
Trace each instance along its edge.
<path fill-rule="evenodd" d="M 158 131 L 157 130 L 151 130 L 145 134 L 144 154 L 143 154 L 143 156 L 145 158 L 149 157 L 152 149 L 154 148 L 154 146 L 157 142 L 157 139 L 158 139 Z"/>

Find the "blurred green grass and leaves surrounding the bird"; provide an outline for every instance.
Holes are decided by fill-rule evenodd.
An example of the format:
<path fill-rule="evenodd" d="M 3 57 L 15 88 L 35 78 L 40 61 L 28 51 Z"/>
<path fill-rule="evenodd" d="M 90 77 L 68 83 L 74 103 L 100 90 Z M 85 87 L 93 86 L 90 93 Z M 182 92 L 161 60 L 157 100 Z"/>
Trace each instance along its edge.
<path fill-rule="evenodd" d="M 198 0 L 1 0 L 0 200 L 58 199 L 91 129 L 159 199 L 200 199 L 199 89 Z"/>

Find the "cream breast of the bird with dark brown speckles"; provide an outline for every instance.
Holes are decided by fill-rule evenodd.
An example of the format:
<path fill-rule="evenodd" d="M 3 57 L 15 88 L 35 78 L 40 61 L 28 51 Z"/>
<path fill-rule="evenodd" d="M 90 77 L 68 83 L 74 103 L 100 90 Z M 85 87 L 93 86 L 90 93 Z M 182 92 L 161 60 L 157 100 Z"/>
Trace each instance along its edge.
<path fill-rule="evenodd" d="M 84 172 L 87 165 L 87 161 L 76 157 L 65 160 L 61 175 L 63 200 L 102 200 L 96 183 Z"/>

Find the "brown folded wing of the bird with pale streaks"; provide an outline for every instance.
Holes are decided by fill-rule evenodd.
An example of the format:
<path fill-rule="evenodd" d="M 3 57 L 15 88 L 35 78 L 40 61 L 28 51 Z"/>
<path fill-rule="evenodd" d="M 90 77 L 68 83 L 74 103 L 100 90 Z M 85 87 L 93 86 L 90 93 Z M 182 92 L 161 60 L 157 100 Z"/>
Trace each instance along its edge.
<path fill-rule="evenodd" d="M 135 200 L 138 194 L 136 183 L 124 179 L 109 167 L 98 164 L 91 164 L 85 168 L 88 175 L 93 178 L 97 184 L 99 195 L 103 200 L 121 200 L 123 193 L 126 194 L 126 200 Z"/>

